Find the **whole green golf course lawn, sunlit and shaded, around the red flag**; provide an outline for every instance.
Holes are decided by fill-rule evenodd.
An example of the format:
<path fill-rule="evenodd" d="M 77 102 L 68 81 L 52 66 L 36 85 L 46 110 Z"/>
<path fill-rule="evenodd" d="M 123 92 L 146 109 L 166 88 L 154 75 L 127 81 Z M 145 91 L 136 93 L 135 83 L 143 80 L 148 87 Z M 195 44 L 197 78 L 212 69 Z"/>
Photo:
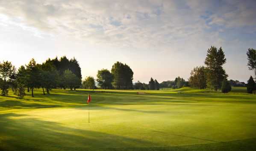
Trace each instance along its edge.
<path fill-rule="evenodd" d="M 256 150 L 256 96 L 245 88 L 36 89 L 22 100 L 9 92 L 0 97 L 0 150 Z"/>

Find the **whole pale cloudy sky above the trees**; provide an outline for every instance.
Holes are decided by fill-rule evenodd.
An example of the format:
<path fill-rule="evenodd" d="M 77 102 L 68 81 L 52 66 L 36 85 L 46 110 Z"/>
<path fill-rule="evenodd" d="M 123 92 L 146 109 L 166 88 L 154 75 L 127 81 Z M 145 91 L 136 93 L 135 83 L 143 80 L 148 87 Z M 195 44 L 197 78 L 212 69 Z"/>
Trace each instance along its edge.
<path fill-rule="evenodd" d="M 148 83 L 187 80 L 215 46 L 228 79 L 246 82 L 255 8 L 256 0 L 0 0 L 0 61 L 75 57 L 83 79 L 120 61 Z"/>

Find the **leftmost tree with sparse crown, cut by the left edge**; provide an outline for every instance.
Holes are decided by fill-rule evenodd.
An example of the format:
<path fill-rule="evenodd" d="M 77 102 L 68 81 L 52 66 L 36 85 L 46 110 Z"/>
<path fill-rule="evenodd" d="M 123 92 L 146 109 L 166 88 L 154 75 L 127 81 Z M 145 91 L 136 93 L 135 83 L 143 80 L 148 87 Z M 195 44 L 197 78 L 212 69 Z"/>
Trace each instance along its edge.
<path fill-rule="evenodd" d="M 7 80 L 13 73 L 13 66 L 11 62 L 3 61 L 3 63 L 0 63 L 0 88 L 1 88 L 1 95 L 6 96 L 8 95 L 8 88 L 9 85 L 7 83 Z"/>

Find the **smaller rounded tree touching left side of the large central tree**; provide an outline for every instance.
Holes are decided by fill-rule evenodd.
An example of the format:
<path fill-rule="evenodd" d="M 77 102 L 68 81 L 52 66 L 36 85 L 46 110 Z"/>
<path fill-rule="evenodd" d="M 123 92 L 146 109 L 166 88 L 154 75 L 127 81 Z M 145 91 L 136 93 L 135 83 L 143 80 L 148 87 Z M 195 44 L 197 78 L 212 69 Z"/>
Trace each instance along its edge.
<path fill-rule="evenodd" d="M 108 69 L 98 70 L 97 74 L 97 82 L 100 88 L 111 89 L 113 82 L 113 75 L 110 73 Z"/>

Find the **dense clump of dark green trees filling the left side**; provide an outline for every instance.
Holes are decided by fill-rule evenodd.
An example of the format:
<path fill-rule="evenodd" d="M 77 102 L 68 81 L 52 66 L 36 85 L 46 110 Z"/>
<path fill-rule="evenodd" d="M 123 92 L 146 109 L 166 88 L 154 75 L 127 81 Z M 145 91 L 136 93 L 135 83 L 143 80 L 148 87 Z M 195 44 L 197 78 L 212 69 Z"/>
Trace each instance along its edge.
<path fill-rule="evenodd" d="M 47 59 L 38 64 L 32 58 L 25 66 L 18 70 L 9 61 L 0 63 L 0 89 L 3 96 L 8 95 L 9 85 L 18 97 L 22 98 L 31 91 L 34 97 L 34 89 L 42 88 L 43 95 L 50 94 L 52 88 L 70 88 L 71 91 L 81 85 L 82 74 L 78 61 L 75 58 L 68 60 L 66 56 L 58 59 Z M 46 91 L 46 92 L 45 92 Z"/>

